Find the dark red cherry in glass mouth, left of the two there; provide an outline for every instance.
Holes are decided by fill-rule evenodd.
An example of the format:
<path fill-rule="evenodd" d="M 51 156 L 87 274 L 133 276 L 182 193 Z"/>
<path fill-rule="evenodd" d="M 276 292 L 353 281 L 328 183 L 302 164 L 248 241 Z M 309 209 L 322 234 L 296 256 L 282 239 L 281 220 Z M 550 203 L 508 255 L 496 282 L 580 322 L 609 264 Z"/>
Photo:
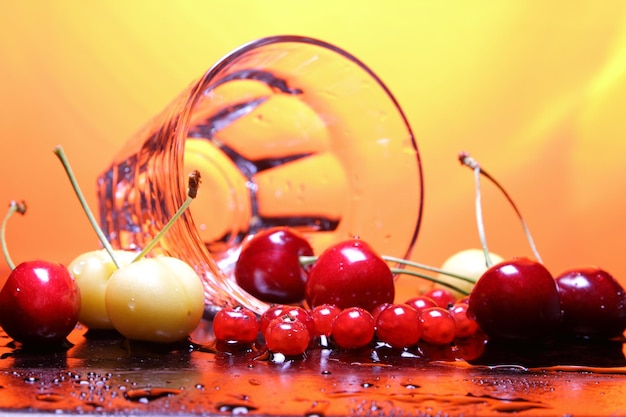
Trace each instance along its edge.
<path fill-rule="evenodd" d="M 287 227 L 263 230 L 242 246 L 235 280 L 268 303 L 297 303 L 304 299 L 307 279 L 300 256 L 313 256 L 313 248 L 299 233 Z"/>

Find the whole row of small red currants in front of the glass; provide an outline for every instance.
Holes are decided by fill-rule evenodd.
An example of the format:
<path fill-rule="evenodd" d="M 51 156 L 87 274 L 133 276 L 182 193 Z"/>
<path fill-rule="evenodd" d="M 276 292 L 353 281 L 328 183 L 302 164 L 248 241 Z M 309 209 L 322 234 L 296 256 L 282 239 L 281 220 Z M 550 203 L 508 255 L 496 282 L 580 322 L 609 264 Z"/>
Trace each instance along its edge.
<path fill-rule="evenodd" d="M 302 355 L 309 348 L 358 349 L 373 343 L 409 349 L 423 342 L 449 346 L 475 335 L 478 324 L 467 315 L 466 299 L 446 290 L 433 290 L 404 303 L 383 303 L 373 311 L 320 304 L 276 304 L 260 317 L 244 307 L 227 307 L 213 320 L 217 340 L 230 344 L 264 341 L 272 353 Z"/>

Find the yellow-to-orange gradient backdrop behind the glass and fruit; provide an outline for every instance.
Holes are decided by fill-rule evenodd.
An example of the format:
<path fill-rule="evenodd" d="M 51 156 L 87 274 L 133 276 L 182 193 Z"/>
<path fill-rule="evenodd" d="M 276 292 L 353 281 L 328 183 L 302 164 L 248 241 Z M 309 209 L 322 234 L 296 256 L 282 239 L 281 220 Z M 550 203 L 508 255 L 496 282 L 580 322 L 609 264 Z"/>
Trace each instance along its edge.
<path fill-rule="evenodd" d="M 98 247 L 55 145 L 95 209 L 95 178 L 129 137 L 230 50 L 279 34 L 346 49 L 404 109 L 425 181 L 413 259 L 479 246 L 466 150 L 553 273 L 595 264 L 626 283 L 626 3 L 611 0 L 7 2 L 0 204 L 29 205 L 7 229 L 13 260 Z M 482 190 L 490 248 L 530 255 L 505 199 Z"/>

